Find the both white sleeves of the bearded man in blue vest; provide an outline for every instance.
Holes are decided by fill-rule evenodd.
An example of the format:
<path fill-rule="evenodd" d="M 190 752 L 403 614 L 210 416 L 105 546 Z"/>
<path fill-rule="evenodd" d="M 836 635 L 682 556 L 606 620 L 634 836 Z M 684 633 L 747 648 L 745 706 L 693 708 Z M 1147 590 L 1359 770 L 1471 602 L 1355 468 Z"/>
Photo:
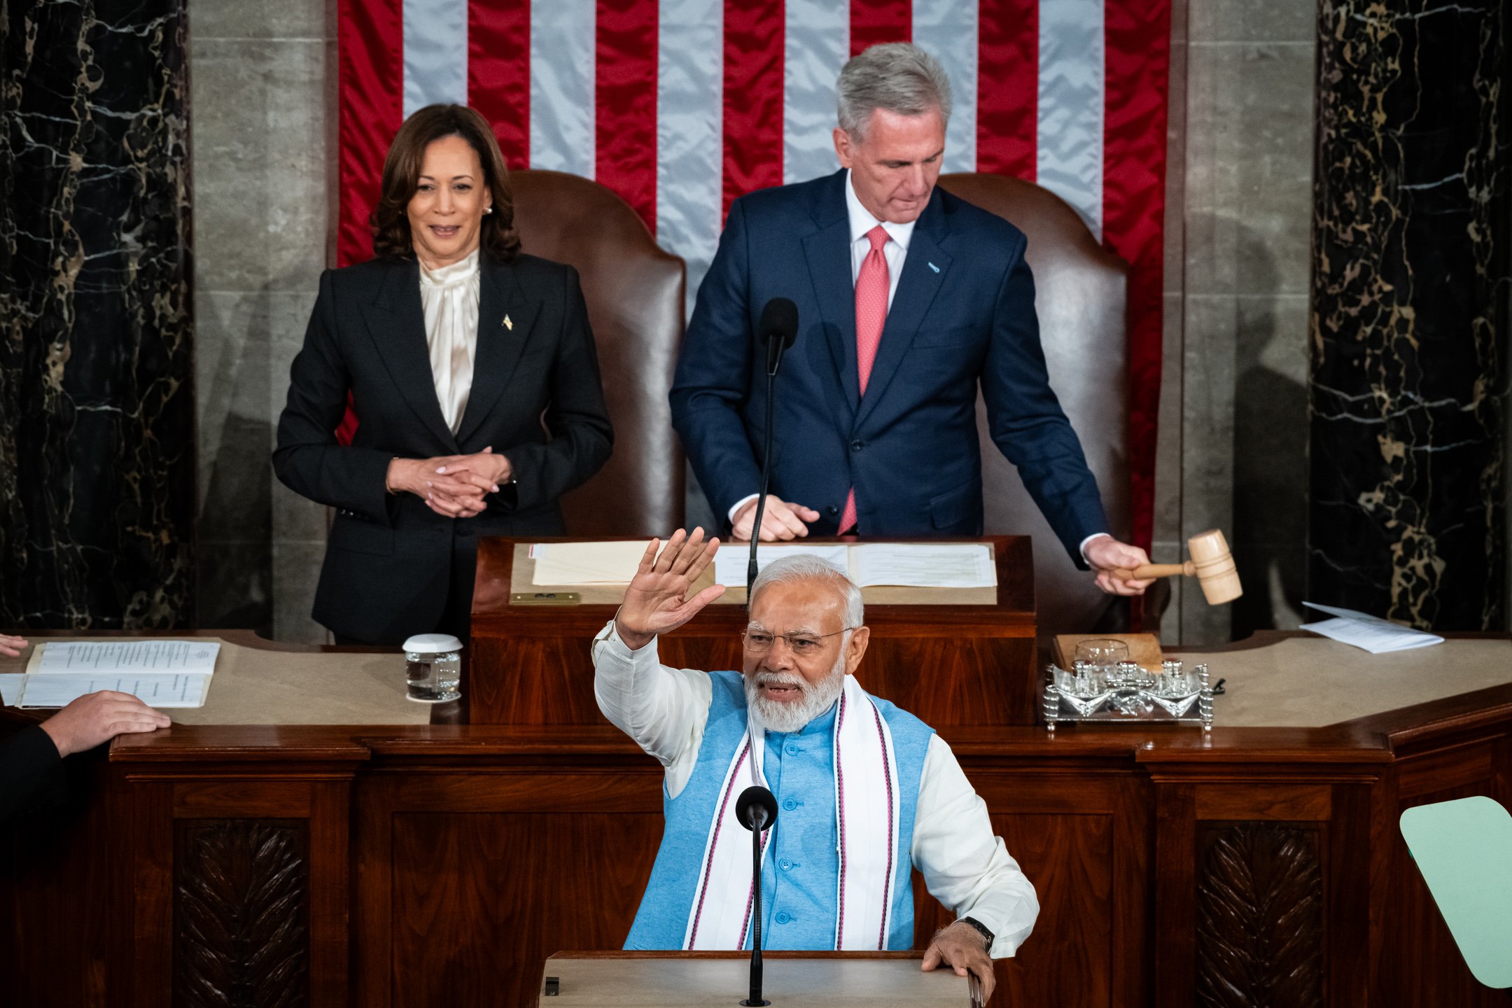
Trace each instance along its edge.
<path fill-rule="evenodd" d="M 662 665 L 655 639 L 632 651 L 612 620 L 593 641 L 593 668 L 599 710 L 667 768 L 667 796 L 676 798 L 692 777 L 709 721 L 708 673 Z M 992 931 L 992 958 L 1013 955 L 1039 916 L 1034 886 L 992 834 L 987 804 L 937 734 L 924 754 L 910 851 L 930 895 Z"/>

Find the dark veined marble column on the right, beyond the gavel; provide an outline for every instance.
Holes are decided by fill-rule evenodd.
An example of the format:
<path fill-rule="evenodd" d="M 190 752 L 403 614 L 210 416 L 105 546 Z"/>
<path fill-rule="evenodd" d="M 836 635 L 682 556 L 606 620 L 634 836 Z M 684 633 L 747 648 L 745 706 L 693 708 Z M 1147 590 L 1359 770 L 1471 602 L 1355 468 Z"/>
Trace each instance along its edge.
<path fill-rule="evenodd" d="M 1309 595 L 1500 629 L 1504 0 L 1321 0 Z"/>

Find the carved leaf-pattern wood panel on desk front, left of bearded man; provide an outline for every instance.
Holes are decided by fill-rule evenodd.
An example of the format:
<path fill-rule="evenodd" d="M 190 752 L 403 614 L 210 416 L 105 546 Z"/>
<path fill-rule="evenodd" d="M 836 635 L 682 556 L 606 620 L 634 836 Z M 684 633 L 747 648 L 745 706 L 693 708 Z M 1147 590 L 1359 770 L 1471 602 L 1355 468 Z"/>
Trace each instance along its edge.
<path fill-rule="evenodd" d="M 304 1008 L 310 858 L 302 821 L 184 819 L 174 858 L 174 1006 Z"/>

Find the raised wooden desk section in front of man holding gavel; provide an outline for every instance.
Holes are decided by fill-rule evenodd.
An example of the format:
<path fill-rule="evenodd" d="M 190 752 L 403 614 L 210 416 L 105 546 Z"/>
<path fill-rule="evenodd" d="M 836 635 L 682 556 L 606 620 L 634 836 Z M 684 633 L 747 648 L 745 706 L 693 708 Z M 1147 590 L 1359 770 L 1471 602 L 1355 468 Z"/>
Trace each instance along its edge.
<path fill-rule="evenodd" d="M 540 540 L 535 540 L 540 541 Z M 847 543 L 851 540 L 813 540 Z M 1034 639 L 1034 555 L 1022 535 L 995 535 L 993 589 L 868 588 L 871 644 L 857 677 L 871 692 L 936 728 L 1031 725 L 1039 700 Z M 472 657 L 463 692 L 472 724 L 608 724 L 593 697 L 588 647 L 614 618 L 623 588 L 578 589 L 582 604 L 514 604 L 531 586 L 516 565 L 528 562 L 526 540 L 484 540 L 478 550 Z M 712 585 L 712 567 L 700 585 Z M 943 604 L 910 600 L 930 594 Z M 692 623 L 658 639 L 673 668 L 741 666 L 745 629 L 744 585 Z"/>

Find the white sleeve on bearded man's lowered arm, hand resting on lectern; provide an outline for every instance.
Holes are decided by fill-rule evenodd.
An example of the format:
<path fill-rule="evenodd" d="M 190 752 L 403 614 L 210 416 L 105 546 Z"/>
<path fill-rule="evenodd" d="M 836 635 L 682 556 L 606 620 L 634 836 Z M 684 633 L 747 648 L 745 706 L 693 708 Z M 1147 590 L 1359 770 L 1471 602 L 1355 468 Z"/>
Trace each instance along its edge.
<path fill-rule="evenodd" d="M 1034 929 L 1034 886 L 993 836 L 987 802 L 937 734 L 930 737 L 919 777 L 913 864 L 931 896 L 957 917 L 975 917 L 992 931 L 992 958 L 1013 955 Z"/>

